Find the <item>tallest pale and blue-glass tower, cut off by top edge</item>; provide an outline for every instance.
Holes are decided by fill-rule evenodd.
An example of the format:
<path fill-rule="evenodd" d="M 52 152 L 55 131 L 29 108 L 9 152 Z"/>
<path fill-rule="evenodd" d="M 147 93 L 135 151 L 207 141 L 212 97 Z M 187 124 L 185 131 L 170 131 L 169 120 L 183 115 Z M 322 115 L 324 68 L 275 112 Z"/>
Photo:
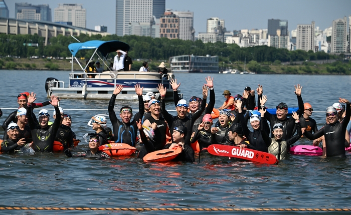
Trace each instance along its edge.
<path fill-rule="evenodd" d="M 116 0 L 116 35 L 129 35 L 132 23 L 159 19 L 164 11 L 165 0 Z"/>

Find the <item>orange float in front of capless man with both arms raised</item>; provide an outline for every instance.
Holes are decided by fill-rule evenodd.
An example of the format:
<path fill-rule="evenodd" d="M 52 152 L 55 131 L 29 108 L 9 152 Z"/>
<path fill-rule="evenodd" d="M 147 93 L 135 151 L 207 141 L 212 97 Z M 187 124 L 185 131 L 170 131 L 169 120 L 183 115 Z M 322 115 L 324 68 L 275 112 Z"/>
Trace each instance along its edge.
<path fill-rule="evenodd" d="M 126 143 L 110 142 L 100 145 L 99 150 L 108 154 L 108 156 L 130 156 L 135 154 L 136 148 Z"/>

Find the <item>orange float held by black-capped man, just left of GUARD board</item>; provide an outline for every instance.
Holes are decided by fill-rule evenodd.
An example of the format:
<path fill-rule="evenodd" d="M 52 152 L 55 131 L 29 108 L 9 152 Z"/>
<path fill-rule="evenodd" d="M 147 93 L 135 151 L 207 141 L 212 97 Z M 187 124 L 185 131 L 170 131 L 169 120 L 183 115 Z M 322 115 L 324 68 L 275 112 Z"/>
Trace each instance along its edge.
<path fill-rule="evenodd" d="M 180 153 L 182 153 L 182 147 L 177 146 L 150 152 L 144 156 L 143 160 L 148 162 L 168 162 L 173 160 Z"/>

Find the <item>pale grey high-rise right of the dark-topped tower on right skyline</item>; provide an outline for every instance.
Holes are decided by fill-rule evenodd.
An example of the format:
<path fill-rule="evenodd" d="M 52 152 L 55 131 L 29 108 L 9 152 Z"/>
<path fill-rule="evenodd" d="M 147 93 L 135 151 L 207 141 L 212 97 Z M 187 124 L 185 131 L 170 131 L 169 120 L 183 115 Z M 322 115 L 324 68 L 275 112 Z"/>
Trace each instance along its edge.
<path fill-rule="evenodd" d="M 314 22 L 311 25 L 297 25 L 296 32 L 296 50 L 314 52 Z"/>

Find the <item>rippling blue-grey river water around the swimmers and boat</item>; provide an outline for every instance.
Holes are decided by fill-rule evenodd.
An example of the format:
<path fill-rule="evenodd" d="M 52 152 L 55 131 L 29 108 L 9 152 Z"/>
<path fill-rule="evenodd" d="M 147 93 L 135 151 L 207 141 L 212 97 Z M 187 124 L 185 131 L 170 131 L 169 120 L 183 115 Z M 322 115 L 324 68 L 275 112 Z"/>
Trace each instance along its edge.
<path fill-rule="evenodd" d="M 46 101 L 45 80 L 54 77 L 68 82 L 69 72 L 0 71 L 0 108 L 5 118 L 18 107 L 21 92 L 37 93 L 37 102 Z M 180 90 L 189 100 L 201 96 L 205 74 L 178 74 Z M 213 74 L 216 105 L 224 102 L 224 90 L 242 94 L 246 86 L 263 85 L 267 107 L 286 102 L 297 106 L 294 85 L 301 84 L 302 98 L 309 102 L 318 128 L 324 122 L 323 111 L 338 98 L 351 99 L 350 76 L 307 75 L 232 75 Z M 116 102 L 119 108 L 128 102 Z M 130 104 L 137 108 L 136 103 Z M 101 111 L 69 110 L 72 130 L 81 138 L 91 132 L 89 119 L 99 113 L 108 114 L 108 101 L 62 100 L 64 109 L 101 109 Z M 14 109 L 5 109 L 14 108 Z M 47 107 L 51 111 L 52 106 Z M 172 103 L 168 110 L 174 110 Z M 321 111 L 320 113 L 318 111 Z M 39 110 L 35 110 L 38 113 Z M 110 127 L 111 124 L 109 124 Z M 3 131 L 0 131 L 3 135 Z M 311 144 L 310 141 L 299 143 Z M 73 149 L 88 148 L 84 141 Z M 68 158 L 62 153 L 36 155 L 0 155 L 0 206 L 19 207 L 156 207 L 156 208 L 349 208 L 351 202 L 351 156 L 346 159 L 322 159 L 290 156 L 279 165 L 239 162 L 225 157 L 202 154 L 200 163 L 145 163 L 135 157 L 112 160 Z M 197 159 L 198 157 L 196 157 Z M 4 210 L 3 214 L 56 214 L 58 211 Z M 61 211 L 65 212 L 65 211 Z M 75 211 L 79 213 L 78 211 Z M 105 214 L 107 211 L 84 211 Z M 132 211 L 108 211 L 138 213 Z M 66 211 L 70 214 L 72 211 Z M 81 211 L 80 213 L 83 213 Z M 143 211 L 160 214 L 157 211 Z M 179 214 L 167 211 L 167 214 Z M 189 213 L 202 214 L 201 211 Z M 227 212 L 215 212 L 217 214 Z M 232 212 L 231 212 L 232 213 Z M 247 213 L 247 212 L 237 212 Z M 271 211 L 260 212 L 271 214 Z M 275 212 L 278 213 L 278 212 Z M 294 214 L 287 212 L 284 214 Z M 346 212 L 341 212 L 346 214 Z"/>

